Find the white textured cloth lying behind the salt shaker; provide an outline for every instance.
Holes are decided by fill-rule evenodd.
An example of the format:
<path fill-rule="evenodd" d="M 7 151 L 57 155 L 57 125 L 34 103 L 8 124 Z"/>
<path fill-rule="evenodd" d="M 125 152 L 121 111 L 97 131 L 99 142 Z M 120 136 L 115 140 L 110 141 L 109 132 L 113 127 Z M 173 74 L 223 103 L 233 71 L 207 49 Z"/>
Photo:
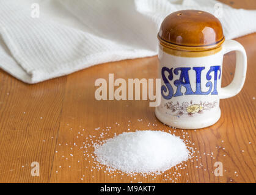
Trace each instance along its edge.
<path fill-rule="evenodd" d="M 34 18 L 40 6 L 39 18 Z M 156 55 L 159 25 L 172 12 L 215 13 L 226 39 L 256 32 L 256 11 L 217 1 L 0 0 L 0 68 L 37 83 L 99 63 Z M 220 11 L 220 12 L 219 12 Z"/>

